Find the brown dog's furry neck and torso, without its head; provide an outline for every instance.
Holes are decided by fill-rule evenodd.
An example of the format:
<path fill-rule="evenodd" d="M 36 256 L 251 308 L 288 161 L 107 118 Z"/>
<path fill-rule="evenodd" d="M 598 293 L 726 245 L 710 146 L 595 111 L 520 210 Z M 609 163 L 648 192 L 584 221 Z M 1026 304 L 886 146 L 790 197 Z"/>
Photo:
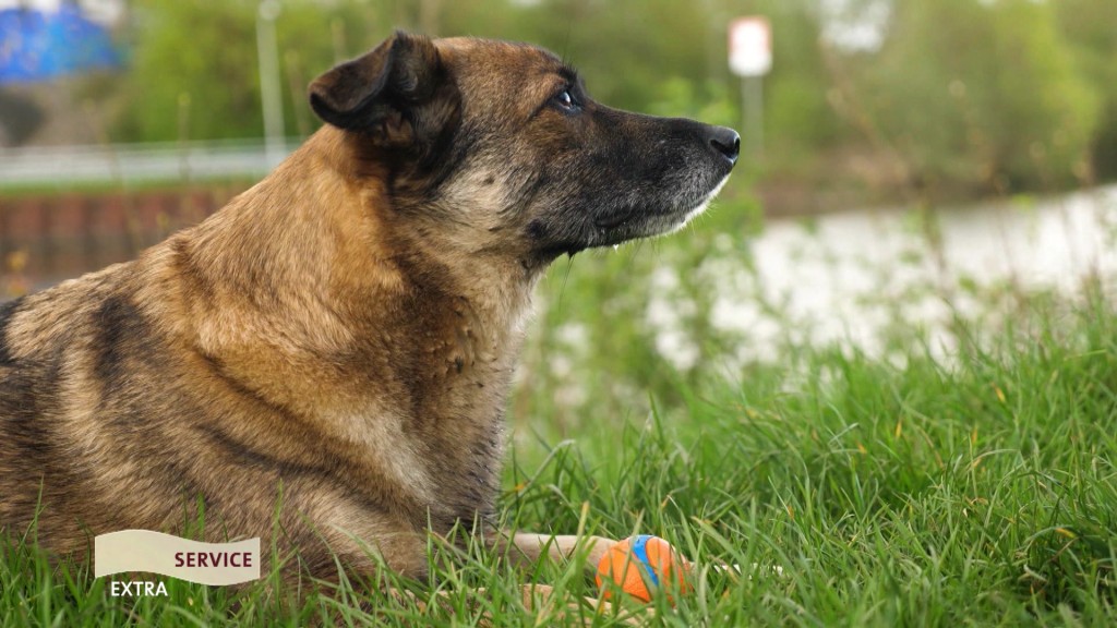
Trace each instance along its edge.
<path fill-rule="evenodd" d="M 428 522 L 491 512 L 516 341 L 477 363 L 478 313 L 389 261 L 414 254 L 328 171 L 338 140 L 324 129 L 140 259 L 0 310 L 9 534 L 36 520 L 65 552 L 87 532 L 182 532 L 200 497 L 210 540 L 266 534 L 278 512 L 304 561 L 331 567 L 321 536 L 367 562 L 356 534 L 417 571 Z M 370 254 L 382 266 L 354 264 Z M 447 383 L 467 371 L 477 383 Z"/>

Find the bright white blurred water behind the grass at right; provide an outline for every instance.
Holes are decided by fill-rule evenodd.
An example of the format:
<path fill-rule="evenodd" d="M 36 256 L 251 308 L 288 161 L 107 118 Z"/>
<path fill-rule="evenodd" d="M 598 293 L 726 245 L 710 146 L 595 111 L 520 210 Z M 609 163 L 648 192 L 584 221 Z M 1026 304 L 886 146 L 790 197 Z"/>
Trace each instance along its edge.
<path fill-rule="evenodd" d="M 933 351 L 949 353 L 947 324 L 981 314 L 978 295 L 996 286 L 1071 298 L 1090 277 L 1117 278 L 1117 187 L 934 217 L 929 230 L 913 212 L 770 220 L 752 267 L 725 256 L 706 269 L 717 286 L 710 323 L 739 339 L 726 349 L 741 362 L 836 342 L 879 354 L 897 326 L 925 330 Z M 671 299 L 653 298 L 648 312 L 657 348 L 689 369 L 696 348 L 665 307 Z"/>

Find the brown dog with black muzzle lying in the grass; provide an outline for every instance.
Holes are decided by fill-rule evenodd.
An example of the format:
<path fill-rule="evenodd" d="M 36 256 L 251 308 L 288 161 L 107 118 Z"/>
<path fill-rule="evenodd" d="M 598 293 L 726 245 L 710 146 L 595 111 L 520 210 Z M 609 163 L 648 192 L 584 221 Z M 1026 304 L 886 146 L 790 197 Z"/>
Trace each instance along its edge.
<path fill-rule="evenodd" d="M 278 523 L 321 578 L 423 578 L 456 527 L 595 564 L 608 540 L 495 529 L 533 286 L 686 225 L 737 133 L 605 107 L 536 47 L 401 31 L 309 105 L 325 124 L 208 219 L 0 306 L 3 532 L 66 554 L 200 504 L 207 540 Z"/>

